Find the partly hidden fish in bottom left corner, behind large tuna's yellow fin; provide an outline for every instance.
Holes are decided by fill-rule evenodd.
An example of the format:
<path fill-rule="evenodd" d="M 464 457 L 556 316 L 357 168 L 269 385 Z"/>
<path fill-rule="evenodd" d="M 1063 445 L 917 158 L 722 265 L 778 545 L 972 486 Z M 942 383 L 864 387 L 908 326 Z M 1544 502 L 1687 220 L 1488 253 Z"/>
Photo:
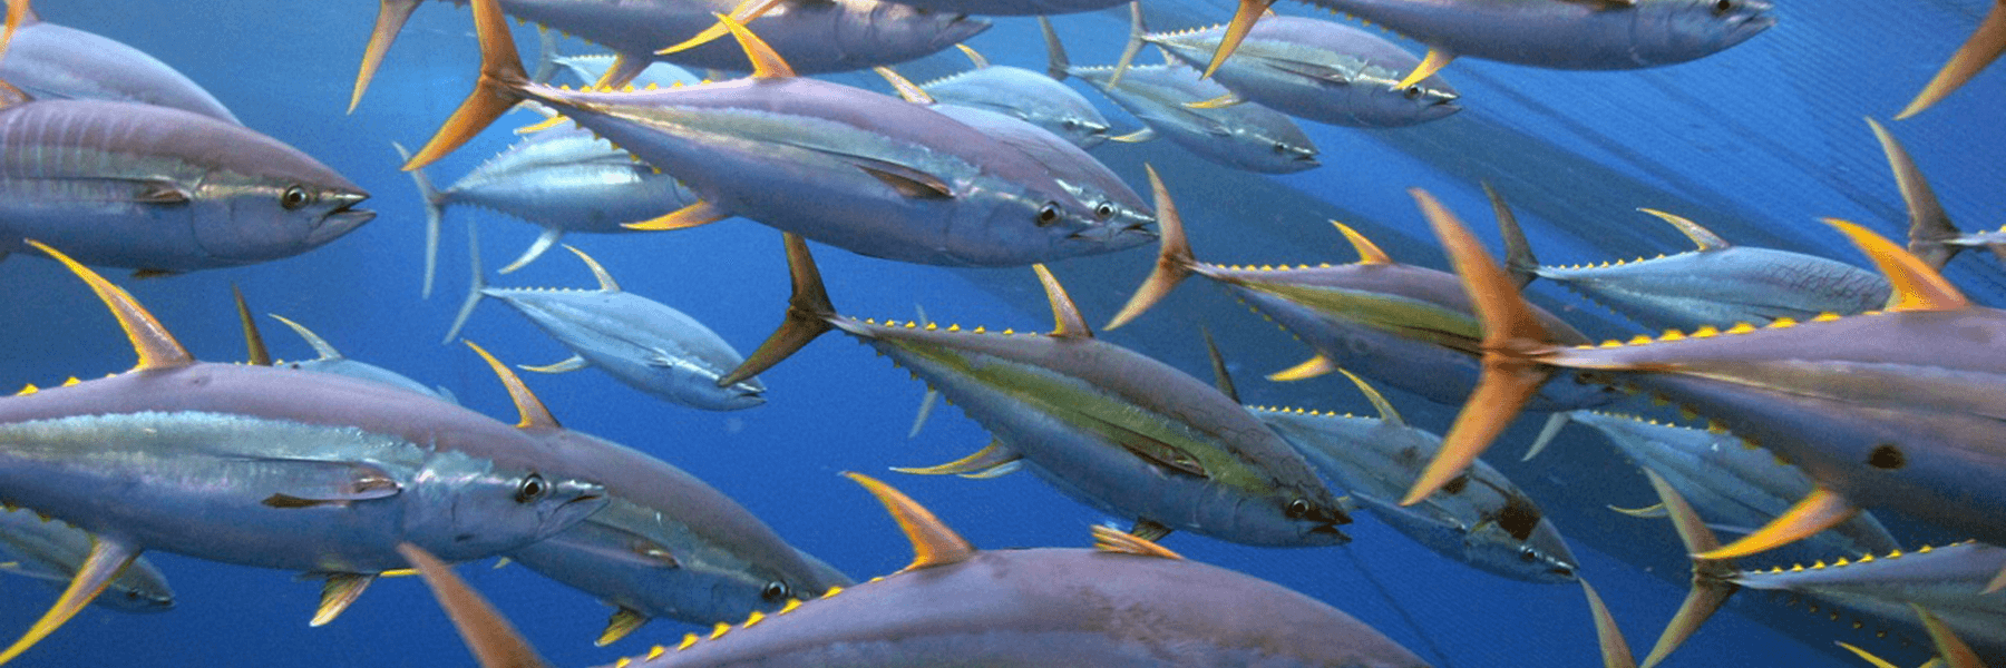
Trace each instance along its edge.
<path fill-rule="evenodd" d="M 60 590 L 90 554 L 90 540 L 84 530 L 32 510 L 0 510 L 0 574 L 42 580 Z M 169 612 L 175 610 L 175 588 L 152 562 L 138 558 L 90 604 L 134 614 Z"/>

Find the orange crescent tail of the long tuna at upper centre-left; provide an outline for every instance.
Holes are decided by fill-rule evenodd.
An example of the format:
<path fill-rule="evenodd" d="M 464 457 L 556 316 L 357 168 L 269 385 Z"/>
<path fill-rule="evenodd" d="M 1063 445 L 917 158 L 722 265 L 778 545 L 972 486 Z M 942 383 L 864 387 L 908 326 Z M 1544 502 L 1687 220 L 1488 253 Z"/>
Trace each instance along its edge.
<path fill-rule="evenodd" d="M 516 36 L 508 30 L 508 16 L 497 0 L 473 0 L 473 30 L 481 40 L 481 76 L 473 82 L 473 92 L 445 118 L 439 134 L 403 162 L 403 171 L 443 158 L 528 98 L 522 88 L 530 84 L 530 74 L 522 68 Z"/>

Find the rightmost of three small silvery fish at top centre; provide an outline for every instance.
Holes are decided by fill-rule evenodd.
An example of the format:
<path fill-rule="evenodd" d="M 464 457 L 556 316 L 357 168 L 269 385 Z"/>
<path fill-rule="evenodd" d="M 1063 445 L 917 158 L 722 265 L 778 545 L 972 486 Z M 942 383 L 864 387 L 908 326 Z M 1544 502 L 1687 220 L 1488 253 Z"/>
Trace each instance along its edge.
<path fill-rule="evenodd" d="M 1141 2 L 1129 2 L 1129 14 L 1137 46 L 1155 44 L 1190 66 L 1206 66 L 1226 36 L 1226 26 L 1147 32 Z M 1354 128 L 1398 128 L 1462 110 L 1460 94 L 1440 76 L 1394 86 L 1416 66 L 1420 58 L 1378 34 L 1330 20 L 1270 16 L 1248 32 L 1240 58 L 1212 72 L 1232 94 L 1202 104 L 1256 102 Z"/>

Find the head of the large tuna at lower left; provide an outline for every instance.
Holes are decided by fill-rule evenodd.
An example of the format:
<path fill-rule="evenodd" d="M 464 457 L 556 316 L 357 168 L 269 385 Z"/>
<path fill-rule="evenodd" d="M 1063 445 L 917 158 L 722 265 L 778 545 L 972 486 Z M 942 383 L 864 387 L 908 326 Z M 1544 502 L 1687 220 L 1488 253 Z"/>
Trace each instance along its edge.
<path fill-rule="evenodd" d="M 405 518 L 413 542 L 439 558 L 473 560 L 564 532 L 606 508 L 606 487 L 540 473 L 457 449 L 435 451 L 409 491 L 423 499 Z"/>

